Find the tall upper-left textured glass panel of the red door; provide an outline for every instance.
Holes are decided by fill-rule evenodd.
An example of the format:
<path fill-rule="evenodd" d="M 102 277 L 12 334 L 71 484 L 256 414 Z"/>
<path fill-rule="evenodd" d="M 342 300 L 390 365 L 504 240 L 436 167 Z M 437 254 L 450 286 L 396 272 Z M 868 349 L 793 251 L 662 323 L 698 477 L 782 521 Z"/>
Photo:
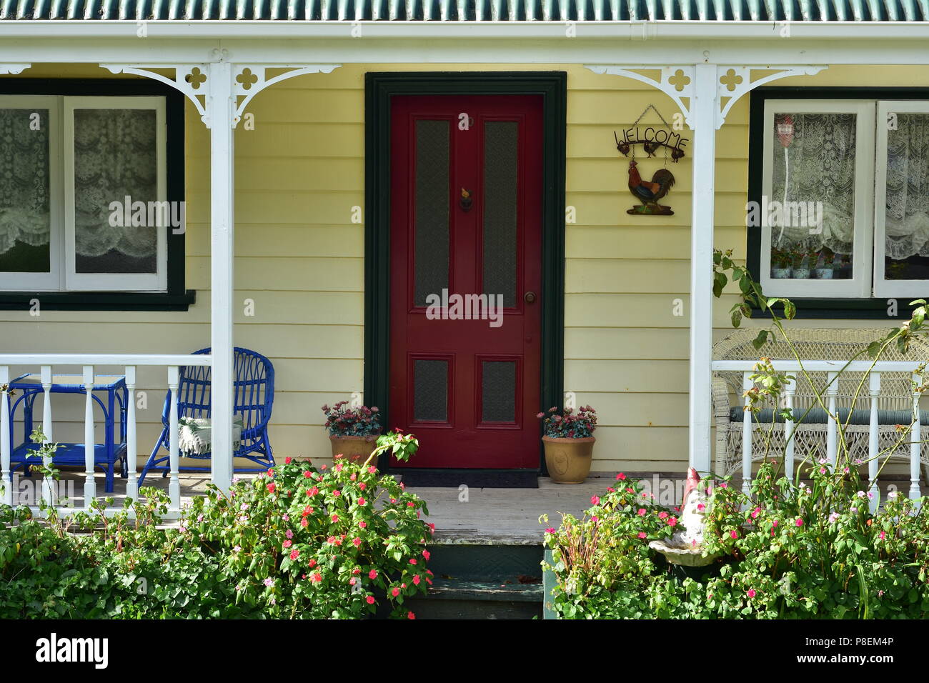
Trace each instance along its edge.
<path fill-rule="evenodd" d="M 449 122 L 416 122 L 416 306 L 449 286 Z"/>

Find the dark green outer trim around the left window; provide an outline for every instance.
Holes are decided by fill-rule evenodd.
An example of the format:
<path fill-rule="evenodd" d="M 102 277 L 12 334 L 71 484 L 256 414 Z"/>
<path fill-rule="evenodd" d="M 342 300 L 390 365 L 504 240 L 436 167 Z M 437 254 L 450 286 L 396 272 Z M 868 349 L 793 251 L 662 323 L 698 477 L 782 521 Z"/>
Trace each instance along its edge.
<path fill-rule="evenodd" d="M 167 199 L 184 200 L 184 96 L 148 78 L 0 78 L 0 95 L 162 96 Z M 0 292 L 0 310 L 187 310 L 196 293 L 185 288 L 185 235 L 168 230 L 165 292 Z"/>

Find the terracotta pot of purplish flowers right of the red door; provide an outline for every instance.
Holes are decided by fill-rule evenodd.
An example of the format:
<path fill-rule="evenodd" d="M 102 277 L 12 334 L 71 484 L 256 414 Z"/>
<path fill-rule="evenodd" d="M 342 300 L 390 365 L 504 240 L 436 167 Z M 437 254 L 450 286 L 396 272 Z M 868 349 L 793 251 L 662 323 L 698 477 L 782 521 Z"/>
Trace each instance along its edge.
<path fill-rule="evenodd" d="M 549 408 L 536 416 L 545 429 L 548 475 L 558 484 L 582 484 L 594 458 L 596 411 L 585 405 L 577 410 Z"/>

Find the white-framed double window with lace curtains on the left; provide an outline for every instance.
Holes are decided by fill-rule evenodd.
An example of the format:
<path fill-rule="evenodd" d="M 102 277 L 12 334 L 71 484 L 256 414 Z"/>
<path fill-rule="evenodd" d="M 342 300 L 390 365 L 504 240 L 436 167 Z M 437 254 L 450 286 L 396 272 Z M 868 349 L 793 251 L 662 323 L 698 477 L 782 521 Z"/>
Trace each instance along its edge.
<path fill-rule="evenodd" d="M 0 96 L 0 289 L 164 292 L 169 204 L 163 97 Z"/>

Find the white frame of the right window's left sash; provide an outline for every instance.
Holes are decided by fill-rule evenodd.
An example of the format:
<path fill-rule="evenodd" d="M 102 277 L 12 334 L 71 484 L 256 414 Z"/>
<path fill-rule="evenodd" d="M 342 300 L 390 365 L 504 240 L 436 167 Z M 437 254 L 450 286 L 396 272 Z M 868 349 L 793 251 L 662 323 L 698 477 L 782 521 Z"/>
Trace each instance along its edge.
<path fill-rule="evenodd" d="M 771 194 L 774 159 L 774 116 L 776 113 L 854 113 L 856 114 L 855 150 L 855 253 L 851 280 L 790 280 L 771 277 L 771 226 L 761 226 L 761 284 L 771 296 L 806 298 L 870 298 L 871 296 L 871 219 L 874 193 L 874 116 L 875 100 L 862 99 L 766 99 L 763 153 L 762 197 Z"/>

